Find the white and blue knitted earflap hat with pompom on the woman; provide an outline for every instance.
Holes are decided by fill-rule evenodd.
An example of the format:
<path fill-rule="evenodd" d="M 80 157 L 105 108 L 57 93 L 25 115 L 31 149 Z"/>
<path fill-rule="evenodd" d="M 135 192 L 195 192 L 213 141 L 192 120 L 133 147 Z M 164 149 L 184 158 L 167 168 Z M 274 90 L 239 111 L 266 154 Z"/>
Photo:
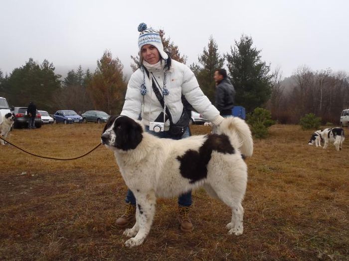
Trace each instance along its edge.
<path fill-rule="evenodd" d="M 144 22 L 138 25 L 138 31 L 140 32 L 140 36 L 138 37 L 138 47 L 140 48 L 141 60 L 141 49 L 142 46 L 146 44 L 155 46 L 163 59 L 167 60 L 169 58 L 168 54 L 164 51 L 163 42 L 158 31 L 154 30 L 153 28 L 148 28 L 147 24 Z"/>

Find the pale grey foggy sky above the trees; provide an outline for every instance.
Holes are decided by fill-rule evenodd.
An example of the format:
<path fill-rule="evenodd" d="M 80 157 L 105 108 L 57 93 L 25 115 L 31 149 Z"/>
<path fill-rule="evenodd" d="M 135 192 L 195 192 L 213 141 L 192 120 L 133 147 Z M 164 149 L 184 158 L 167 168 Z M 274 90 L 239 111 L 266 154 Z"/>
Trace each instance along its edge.
<path fill-rule="evenodd" d="M 210 36 L 225 54 L 246 34 L 284 77 L 303 65 L 348 73 L 348 9 L 346 0 L 0 0 L 0 69 L 10 74 L 32 57 L 63 75 L 80 64 L 94 71 L 108 49 L 129 76 L 137 27 L 145 22 L 165 30 L 187 65 L 197 62 Z"/>

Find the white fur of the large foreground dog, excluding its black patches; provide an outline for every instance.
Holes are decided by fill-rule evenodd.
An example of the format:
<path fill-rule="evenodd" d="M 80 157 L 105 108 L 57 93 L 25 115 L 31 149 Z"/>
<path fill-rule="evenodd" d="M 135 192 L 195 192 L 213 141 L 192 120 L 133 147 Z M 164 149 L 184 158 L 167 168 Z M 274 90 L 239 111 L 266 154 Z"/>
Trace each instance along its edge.
<path fill-rule="evenodd" d="M 120 172 L 126 185 L 134 193 L 138 206 L 136 224 L 124 232 L 125 236 L 130 237 L 125 243 L 126 246 L 141 245 L 149 234 L 157 197 L 174 197 L 198 187 L 204 187 L 209 195 L 220 199 L 231 208 L 231 221 L 226 225 L 228 234 L 243 233 L 241 202 L 247 185 L 247 165 L 241 153 L 251 156 L 253 152 L 251 131 L 243 120 L 226 118 L 216 128 L 218 134 L 225 133 L 229 137 L 235 153 L 213 150 L 207 164 L 206 178 L 194 183 L 190 183 L 190 179 L 180 174 L 180 161 L 177 157 L 183 156 L 188 150 L 198 151 L 206 141 L 206 135 L 173 140 L 143 132 L 143 139 L 135 149 L 122 150 L 113 145 L 113 140 L 117 139 L 113 130 L 114 124 L 115 121 L 104 131 L 110 137 L 107 143 L 112 144 L 106 146 L 114 151 Z"/>

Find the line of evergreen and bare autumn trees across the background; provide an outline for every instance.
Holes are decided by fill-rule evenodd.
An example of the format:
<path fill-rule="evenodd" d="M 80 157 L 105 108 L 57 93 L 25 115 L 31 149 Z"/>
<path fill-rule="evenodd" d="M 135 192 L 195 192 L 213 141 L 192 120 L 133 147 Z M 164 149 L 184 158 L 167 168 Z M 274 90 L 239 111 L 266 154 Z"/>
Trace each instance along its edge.
<path fill-rule="evenodd" d="M 160 30 L 164 49 L 179 62 L 187 57 Z M 131 56 L 133 71 L 139 67 L 139 55 Z M 271 111 L 272 118 L 282 124 L 297 124 L 308 113 L 321 117 L 323 123 L 337 124 L 343 109 L 349 108 L 349 76 L 331 69 L 313 71 L 300 66 L 293 75 L 283 78 L 281 68 L 271 71 L 270 63 L 262 60 L 261 50 L 250 36 L 241 35 L 230 52 L 221 54 L 211 36 L 198 55 L 197 62 L 188 65 L 194 72 L 203 93 L 214 104 L 216 69 L 227 68 L 236 90 L 236 105 L 250 113 L 257 107 Z M 41 110 L 54 113 L 70 109 L 78 113 L 101 110 L 116 115 L 121 112 L 127 88 L 123 64 L 108 50 L 97 61 L 94 72 L 81 66 L 68 72 L 64 79 L 54 73 L 47 60 L 41 64 L 32 58 L 9 75 L 0 69 L 0 96 L 13 106 L 26 106 L 33 101 Z"/>

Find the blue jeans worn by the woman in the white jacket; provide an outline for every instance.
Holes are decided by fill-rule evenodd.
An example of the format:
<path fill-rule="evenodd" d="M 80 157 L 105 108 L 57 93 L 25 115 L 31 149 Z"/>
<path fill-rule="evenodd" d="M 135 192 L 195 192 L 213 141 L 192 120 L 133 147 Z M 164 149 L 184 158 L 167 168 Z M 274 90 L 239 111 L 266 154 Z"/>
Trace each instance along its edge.
<path fill-rule="evenodd" d="M 159 133 L 156 133 L 152 130 L 149 130 L 149 127 L 146 126 L 146 131 L 153 134 L 154 136 L 160 137 L 160 138 L 172 138 L 172 139 L 181 139 L 190 136 L 189 128 L 187 128 L 184 132 L 184 134 L 181 137 L 176 137 L 170 135 L 169 131 L 161 131 Z M 133 195 L 132 191 L 130 189 L 127 190 L 127 195 L 125 199 L 126 203 L 131 203 L 132 205 L 136 205 L 136 198 Z M 191 206 L 191 191 L 182 194 L 178 197 L 178 205 L 189 207 Z"/>

